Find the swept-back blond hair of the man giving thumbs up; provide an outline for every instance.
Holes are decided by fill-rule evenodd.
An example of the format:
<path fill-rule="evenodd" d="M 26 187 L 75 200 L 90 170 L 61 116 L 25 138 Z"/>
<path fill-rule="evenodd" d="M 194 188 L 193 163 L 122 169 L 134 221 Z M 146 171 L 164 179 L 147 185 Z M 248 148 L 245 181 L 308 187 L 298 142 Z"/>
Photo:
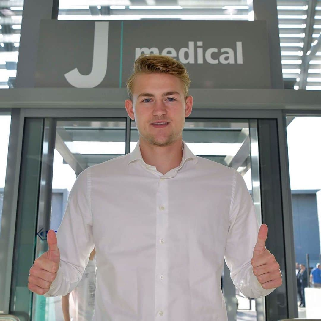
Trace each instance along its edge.
<path fill-rule="evenodd" d="M 172 57 L 157 54 L 142 54 L 134 62 L 134 72 L 126 82 L 127 92 L 133 101 L 134 80 L 138 74 L 166 73 L 178 77 L 183 83 L 185 99 L 191 80 L 184 65 Z"/>

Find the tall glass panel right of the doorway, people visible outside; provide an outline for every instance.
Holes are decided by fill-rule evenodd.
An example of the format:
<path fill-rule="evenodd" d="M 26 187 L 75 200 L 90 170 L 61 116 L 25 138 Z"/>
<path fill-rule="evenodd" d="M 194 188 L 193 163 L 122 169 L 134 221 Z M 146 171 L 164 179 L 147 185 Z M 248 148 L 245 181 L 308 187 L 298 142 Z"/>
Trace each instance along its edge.
<path fill-rule="evenodd" d="M 287 116 L 299 318 L 321 318 L 321 117 Z M 316 166 L 303 162 L 309 157 Z"/>

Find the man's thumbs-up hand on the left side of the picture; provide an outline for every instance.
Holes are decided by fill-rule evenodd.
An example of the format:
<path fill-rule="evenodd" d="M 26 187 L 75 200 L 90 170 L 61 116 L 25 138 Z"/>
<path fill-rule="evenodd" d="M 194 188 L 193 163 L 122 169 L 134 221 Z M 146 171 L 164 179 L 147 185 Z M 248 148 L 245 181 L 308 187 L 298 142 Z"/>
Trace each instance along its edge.
<path fill-rule="evenodd" d="M 49 291 L 51 283 L 56 279 L 60 262 L 60 253 L 54 230 L 48 231 L 47 242 L 48 251 L 35 259 L 28 276 L 28 289 L 40 295 Z"/>

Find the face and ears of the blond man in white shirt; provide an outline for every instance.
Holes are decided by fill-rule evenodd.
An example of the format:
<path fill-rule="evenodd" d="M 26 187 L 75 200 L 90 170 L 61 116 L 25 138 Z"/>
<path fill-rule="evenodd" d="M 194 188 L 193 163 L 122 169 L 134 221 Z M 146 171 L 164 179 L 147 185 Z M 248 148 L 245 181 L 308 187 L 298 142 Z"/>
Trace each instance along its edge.
<path fill-rule="evenodd" d="M 177 92 L 177 93 L 174 93 Z M 167 93 L 163 96 L 164 93 Z M 133 101 L 126 100 L 128 116 L 135 119 L 140 139 L 166 146 L 182 137 L 185 117 L 192 111 L 193 97 L 185 100 L 182 81 L 171 74 L 139 74 L 134 80 Z M 168 122 L 154 127 L 153 122 Z"/>

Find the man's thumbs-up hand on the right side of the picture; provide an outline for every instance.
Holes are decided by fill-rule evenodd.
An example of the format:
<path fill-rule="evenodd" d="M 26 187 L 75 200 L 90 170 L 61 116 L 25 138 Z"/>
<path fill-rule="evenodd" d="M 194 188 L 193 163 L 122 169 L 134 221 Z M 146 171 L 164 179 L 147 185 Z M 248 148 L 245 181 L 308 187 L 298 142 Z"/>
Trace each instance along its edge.
<path fill-rule="evenodd" d="M 257 242 L 253 250 L 251 265 L 257 281 L 263 289 L 277 288 L 282 284 L 280 265 L 275 256 L 266 249 L 267 225 L 262 224 L 257 234 Z"/>

